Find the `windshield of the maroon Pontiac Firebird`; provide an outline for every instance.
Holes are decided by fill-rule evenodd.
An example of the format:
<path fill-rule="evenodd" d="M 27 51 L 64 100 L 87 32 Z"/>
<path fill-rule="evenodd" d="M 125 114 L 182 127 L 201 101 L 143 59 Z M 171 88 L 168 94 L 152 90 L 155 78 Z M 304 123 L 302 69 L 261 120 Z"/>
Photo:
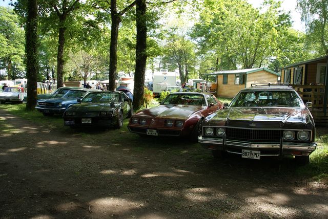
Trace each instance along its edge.
<path fill-rule="evenodd" d="M 161 103 L 162 105 L 168 104 L 184 104 L 184 105 L 206 105 L 206 101 L 201 94 L 170 94 Z"/>

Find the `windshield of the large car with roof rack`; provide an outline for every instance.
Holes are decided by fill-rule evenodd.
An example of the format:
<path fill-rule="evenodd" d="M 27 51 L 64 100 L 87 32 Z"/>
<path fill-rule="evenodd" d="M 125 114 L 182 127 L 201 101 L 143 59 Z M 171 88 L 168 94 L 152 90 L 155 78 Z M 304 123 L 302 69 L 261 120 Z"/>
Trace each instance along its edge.
<path fill-rule="evenodd" d="M 302 100 L 294 91 L 239 92 L 231 107 L 301 107 Z"/>

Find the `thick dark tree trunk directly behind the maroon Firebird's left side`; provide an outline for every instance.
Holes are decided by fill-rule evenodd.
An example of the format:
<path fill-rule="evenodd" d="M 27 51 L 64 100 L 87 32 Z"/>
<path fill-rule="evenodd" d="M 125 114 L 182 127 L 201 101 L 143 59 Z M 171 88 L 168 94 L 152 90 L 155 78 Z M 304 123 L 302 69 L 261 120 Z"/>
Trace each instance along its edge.
<path fill-rule="evenodd" d="M 144 101 L 145 72 L 147 60 L 147 25 L 146 25 L 146 0 L 136 2 L 136 49 L 135 49 L 135 74 L 133 107 L 139 109 Z"/>

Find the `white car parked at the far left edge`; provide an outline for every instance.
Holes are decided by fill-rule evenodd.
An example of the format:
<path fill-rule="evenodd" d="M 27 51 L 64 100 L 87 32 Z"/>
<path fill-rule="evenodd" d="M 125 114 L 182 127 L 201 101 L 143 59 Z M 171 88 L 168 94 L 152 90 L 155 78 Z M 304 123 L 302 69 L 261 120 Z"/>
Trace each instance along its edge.
<path fill-rule="evenodd" d="M 27 96 L 26 91 L 23 87 L 6 87 L 5 90 L 0 94 L 0 103 L 6 102 L 17 102 L 23 103 L 24 98 Z"/>

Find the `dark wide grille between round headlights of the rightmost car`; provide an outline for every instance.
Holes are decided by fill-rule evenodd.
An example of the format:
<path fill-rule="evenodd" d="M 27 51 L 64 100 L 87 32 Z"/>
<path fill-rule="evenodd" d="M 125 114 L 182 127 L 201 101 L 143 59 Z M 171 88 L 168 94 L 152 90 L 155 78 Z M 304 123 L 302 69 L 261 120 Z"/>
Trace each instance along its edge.
<path fill-rule="evenodd" d="M 244 141 L 279 141 L 281 130 L 227 128 L 227 139 Z"/>

